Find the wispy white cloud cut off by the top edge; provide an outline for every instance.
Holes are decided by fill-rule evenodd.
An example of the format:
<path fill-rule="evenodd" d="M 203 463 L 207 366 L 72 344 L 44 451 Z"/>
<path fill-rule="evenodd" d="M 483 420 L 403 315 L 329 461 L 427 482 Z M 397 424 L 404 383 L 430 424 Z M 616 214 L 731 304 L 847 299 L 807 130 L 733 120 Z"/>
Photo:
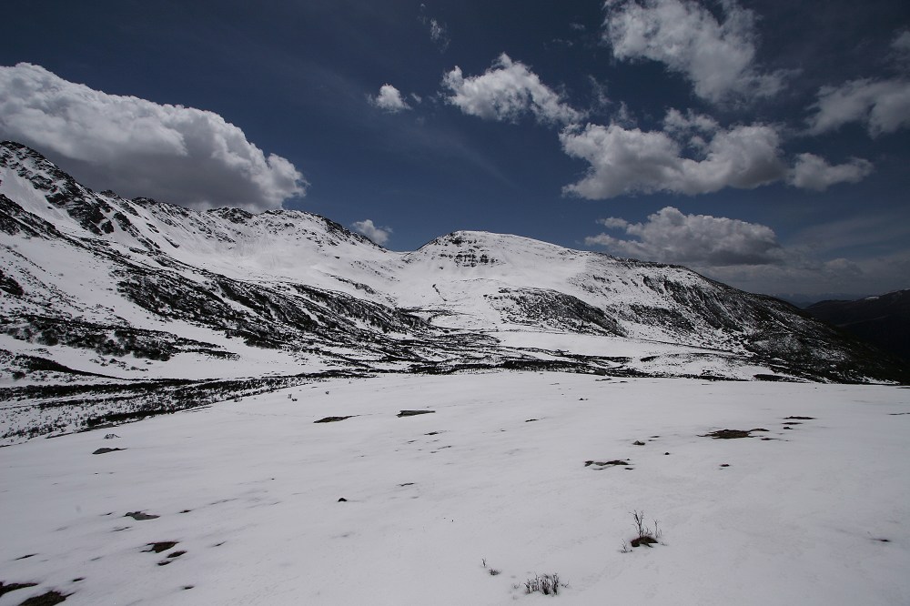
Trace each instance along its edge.
<path fill-rule="evenodd" d="M 754 66 L 752 11 L 734 0 L 720 5 L 723 23 L 691 0 L 606 0 L 602 39 L 618 59 L 658 61 L 681 74 L 708 101 L 773 96 L 785 74 Z"/>

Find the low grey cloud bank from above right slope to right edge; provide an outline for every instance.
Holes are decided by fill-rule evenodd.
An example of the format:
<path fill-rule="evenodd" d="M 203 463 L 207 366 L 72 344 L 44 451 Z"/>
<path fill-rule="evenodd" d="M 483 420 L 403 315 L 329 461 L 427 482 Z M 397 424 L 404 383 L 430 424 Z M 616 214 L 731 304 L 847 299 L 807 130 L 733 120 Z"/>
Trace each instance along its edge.
<path fill-rule="evenodd" d="M 736 288 L 764 293 L 887 292 L 906 288 L 910 252 L 844 258 L 845 248 L 904 242 L 900 217 L 851 217 L 810 227 L 783 246 L 771 227 L 727 217 L 685 215 L 665 207 L 642 223 L 598 221 L 612 230 L 585 238 L 622 257 L 676 263 Z M 890 244 L 889 244 L 890 243 Z"/>

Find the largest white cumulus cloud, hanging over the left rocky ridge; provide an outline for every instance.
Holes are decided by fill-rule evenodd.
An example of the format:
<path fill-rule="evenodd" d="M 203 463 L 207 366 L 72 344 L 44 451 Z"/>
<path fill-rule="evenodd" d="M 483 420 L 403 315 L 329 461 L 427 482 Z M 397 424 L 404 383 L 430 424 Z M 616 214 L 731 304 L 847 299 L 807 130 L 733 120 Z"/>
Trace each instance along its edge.
<path fill-rule="evenodd" d="M 267 157 L 213 112 L 108 95 L 26 63 L 0 66 L 0 135 L 92 187 L 187 207 L 261 211 L 308 186 L 286 158 Z"/>

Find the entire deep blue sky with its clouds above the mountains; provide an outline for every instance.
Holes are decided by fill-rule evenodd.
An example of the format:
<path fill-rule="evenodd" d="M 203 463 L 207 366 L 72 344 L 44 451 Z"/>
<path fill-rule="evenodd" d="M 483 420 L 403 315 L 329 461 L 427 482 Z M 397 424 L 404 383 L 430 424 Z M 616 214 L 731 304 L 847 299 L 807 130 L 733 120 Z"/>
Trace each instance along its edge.
<path fill-rule="evenodd" d="M 77 180 L 822 298 L 910 288 L 910 4 L 21 0 L 0 137 Z"/>

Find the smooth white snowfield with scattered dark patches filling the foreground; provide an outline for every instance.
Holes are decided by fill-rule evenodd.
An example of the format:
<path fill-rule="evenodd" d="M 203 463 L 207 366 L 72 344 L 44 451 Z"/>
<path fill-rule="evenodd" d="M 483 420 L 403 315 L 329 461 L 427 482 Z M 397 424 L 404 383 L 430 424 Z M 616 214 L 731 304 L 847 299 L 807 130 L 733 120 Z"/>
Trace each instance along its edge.
<path fill-rule="evenodd" d="M 906 604 L 908 451 L 891 386 L 330 379 L 0 449 L 0 606 Z"/>

